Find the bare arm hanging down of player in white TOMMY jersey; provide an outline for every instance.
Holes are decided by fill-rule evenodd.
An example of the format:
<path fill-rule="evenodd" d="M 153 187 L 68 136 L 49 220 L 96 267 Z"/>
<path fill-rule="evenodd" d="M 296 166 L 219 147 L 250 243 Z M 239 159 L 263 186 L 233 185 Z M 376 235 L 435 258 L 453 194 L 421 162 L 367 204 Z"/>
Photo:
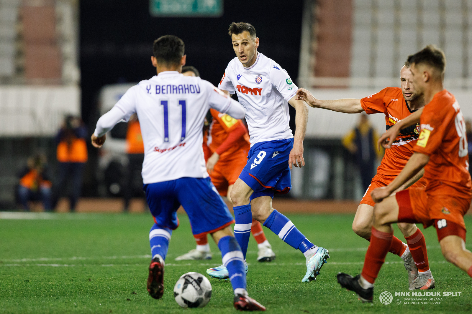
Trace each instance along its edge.
<path fill-rule="evenodd" d="M 290 169 L 292 169 L 292 164 L 297 168 L 305 165 L 305 160 L 303 159 L 303 139 L 305 138 L 306 124 L 308 122 L 308 106 L 304 101 L 296 100 L 295 97 L 288 101 L 296 110 L 294 148 L 288 156 Z"/>

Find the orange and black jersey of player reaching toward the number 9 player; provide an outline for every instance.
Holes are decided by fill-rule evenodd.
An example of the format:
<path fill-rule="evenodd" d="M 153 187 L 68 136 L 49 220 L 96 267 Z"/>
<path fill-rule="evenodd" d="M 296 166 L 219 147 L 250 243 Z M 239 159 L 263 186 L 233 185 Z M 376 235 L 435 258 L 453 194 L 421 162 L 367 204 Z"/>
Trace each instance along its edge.
<path fill-rule="evenodd" d="M 397 87 L 387 87 L 377 94 L 362 98 L 361 105 L 367 114 L 384 113 L 386 129 L 416 111 L 410 110 L 403 97 L 402 89 Z M 377 173 L 398 175 L 413 154 L 413 147 L 419 134 L 419 124 L 403 129 L 396 137 L 392 148 L 385 150 L 385 155 L 377 168 Z"/>

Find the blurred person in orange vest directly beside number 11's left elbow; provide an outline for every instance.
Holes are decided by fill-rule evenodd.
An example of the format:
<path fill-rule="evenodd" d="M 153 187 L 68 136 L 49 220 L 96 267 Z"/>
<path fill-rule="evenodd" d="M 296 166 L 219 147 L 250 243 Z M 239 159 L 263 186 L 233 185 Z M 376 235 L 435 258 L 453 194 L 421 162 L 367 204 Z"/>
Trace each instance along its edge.
<path fill-rule="evenodd" d="M 136 196 L 137 191 L 139 191 L 138 193 L 142 197 L 145 196 L 143 192 L 143 177 L 141 176 L 144 161 L 144 144 L 136 114 L 133 114 L 128 121 L 126 153 L 128 154 L 128 169 L 125 180 L 125 185 L 127 186 L 123 189 L 123 197 L 125 199 L 125 211 L 128 211 L 129 201 L 131 197 Z"/>

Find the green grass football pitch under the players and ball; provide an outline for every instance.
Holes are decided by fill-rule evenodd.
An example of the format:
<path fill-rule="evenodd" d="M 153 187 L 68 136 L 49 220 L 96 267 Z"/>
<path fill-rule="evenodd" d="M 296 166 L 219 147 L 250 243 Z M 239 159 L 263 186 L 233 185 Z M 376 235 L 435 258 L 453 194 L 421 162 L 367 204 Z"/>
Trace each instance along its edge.
<path fill-rule="evenodd" d="M 395 291 L 408 291 L 400 258 L 388 254 L 380 271 L 374 303 L 362 304 L 336 282 L 337 272 L 358 274 L 368 242 L 351 230 L 353 215 L 288 215 L 313 243 L 329 249 L 331 258 L 316 282 L 302 283 L 305 258 L 264 228 L 277 254 L 271 263 L 256 261 L 252 238 L 247 262 L 250 295 L 267 307 L 268 313 L 461 313 L 472 310 L 472 279 L 445 262 L 435 230 L 423 230 L 436 279 L 436 291 L 462 291 L 461 297 L 442 297 L 440 305 L 404 304 Z M 230 282 L 211 279 L 213 295 L 204 308 L 182 309 L 172 290 L 180 275 L 221 263 L 214 254 L 209 261 L 174 258 L 194 248 L 190 225 L 180 215 L 172 234 L 165 268 L 165 292 L 160 300 L 146 291 L 150 262 L 149 214 L 52 214 L 52 219 L 0 219 L 0 313 L 235 313 Z M 465 217 L 472 228 L 472 217 Z M 396 226 L 396 236 L 400 235 Z M 422 229 L 422 228 L 421 228 Z M 471 236 L 468 235 L 468 242 Z M 470 249 L 471 246 L 468 246 Z M 433 291 L 435 291 L 433 290 Z M 379 294 L 389 291 L 393 302 L 383 305 Z M 400 304 L 396 304 L 400 300 Z M 408 301 L 406 301 L 408 302 Z M 412 302 L 410 300 L 410 302 Z"/>

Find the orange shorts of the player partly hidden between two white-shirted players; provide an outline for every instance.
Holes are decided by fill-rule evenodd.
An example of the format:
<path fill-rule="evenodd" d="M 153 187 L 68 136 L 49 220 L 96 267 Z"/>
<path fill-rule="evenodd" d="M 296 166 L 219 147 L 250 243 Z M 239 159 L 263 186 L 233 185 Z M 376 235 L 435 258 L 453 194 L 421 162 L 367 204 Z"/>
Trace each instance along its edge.
<path fill-rule="evenodd" d="M 219 195 L 226 196 L 228 185 L 235 184 L 247 163 L 247 152 L 241 151 L 231 158 L 222 158 L 216 164 L 210 174 L 211 182 L 215 185 Z"/>

